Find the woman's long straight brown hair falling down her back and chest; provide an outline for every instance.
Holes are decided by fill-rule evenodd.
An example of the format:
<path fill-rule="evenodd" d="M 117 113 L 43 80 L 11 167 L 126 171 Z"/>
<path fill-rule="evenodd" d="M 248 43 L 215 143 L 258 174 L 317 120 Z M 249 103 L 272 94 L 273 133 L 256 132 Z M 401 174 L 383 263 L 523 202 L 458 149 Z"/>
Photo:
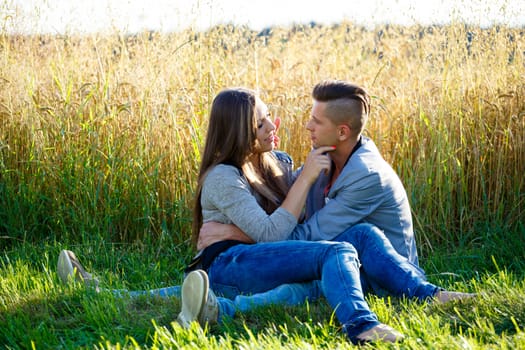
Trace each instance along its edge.
<path fill-rule="evenodd" d="M 192 241 L 197 242 L 202 226 L 202 185 L 208 172 L 225 163 L 242 169 L 250 185 L 260 195 L 267 213 L 277 209 L 288 190 L 281 168 L 271 152 L 256 154 L 257 118 L 254 91 L 230 88 L 213 100 L 195 194 Z"/>

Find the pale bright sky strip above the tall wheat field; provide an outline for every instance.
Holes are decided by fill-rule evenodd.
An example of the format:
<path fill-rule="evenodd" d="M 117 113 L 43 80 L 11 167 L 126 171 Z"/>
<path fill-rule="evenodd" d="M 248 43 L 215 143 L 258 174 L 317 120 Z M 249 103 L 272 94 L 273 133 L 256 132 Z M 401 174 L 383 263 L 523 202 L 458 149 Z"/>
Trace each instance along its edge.
<path fill-rule="evenodd" d="M 342 20 L 525 27 L 525 0 L 1 0 L 0 20 L 3 31 L 23 34 L 171 32 L 219 23 L 260 30 Z"/>

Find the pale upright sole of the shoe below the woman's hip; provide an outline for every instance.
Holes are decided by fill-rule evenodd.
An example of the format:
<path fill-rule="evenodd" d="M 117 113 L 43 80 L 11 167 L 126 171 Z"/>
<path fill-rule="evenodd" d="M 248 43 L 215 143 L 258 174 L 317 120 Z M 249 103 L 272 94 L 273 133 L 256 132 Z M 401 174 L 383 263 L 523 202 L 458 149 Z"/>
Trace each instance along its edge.
<path fill-rule="evenodd" d="M 190 272 L 182 284 L 182 308 L 177 322 L 184 328 L 189 328 L 193 321 L 199 320 L 206 303 L 209 291 L 208 277 L 195 270 Z"/>

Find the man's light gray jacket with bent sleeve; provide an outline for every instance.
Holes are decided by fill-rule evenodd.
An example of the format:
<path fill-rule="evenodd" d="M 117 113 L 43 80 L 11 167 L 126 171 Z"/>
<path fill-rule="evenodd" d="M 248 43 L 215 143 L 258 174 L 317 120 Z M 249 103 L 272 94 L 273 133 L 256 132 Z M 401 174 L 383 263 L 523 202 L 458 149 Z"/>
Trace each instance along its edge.
<path fill-rule="evenodd" d="M 350 157 L 327 197 L 330 176 L 322 173 L 306 202 L 307 220 L 290 239 L 331 240 L 357 223 L 370 223 L 385 232 L 394 248 L 418 264 L 412 214 L 401 180 L 383 159 L 372 140 Z"/>

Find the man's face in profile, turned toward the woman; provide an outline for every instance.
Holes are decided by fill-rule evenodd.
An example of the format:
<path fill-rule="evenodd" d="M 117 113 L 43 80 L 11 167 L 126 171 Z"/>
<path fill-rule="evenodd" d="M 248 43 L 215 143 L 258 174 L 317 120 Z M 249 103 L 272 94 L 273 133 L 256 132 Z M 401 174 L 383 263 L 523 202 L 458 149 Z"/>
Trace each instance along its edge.
<path fill-rule="evenodd" d="M 326 102 L 314 100 L 310 120 L 306 123 L 306 129 L 310 131 L 310 137 L 314 148 L 320 146 L 337 146 L 339 142 L 339 130 L 337 126 L 326 117 Z"/>

